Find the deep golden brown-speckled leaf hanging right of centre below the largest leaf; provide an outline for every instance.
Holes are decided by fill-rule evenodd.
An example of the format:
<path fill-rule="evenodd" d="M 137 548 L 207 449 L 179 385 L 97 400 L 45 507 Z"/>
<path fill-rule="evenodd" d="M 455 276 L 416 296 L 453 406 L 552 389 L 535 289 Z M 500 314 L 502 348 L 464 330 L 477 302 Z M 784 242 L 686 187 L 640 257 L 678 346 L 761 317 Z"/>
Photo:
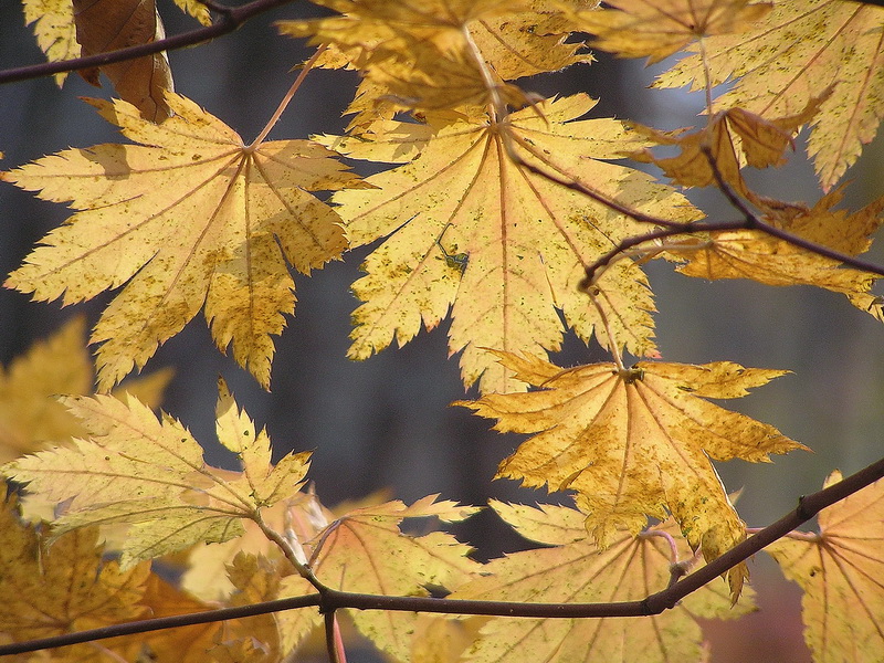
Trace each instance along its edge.
<path fill-rule="evenodd" d="M 672 514 L 691 547 L 714 559 L 746 534 L 709 459 L 759 462 L 804 449 L 771 425 L 704 400 L 739 398 L 781 370 L 726 361 L 562 370 L 537 357 L 493 354 L 539 390 L 455 404 L 497 419 L 496 430 L 536 433 L 501 463 L 497 477 L 576 491 L 589 514 L 586 527 L 602 548 L 623 529 L 641 530 L 646 516 Z M 728 572 L 734 596 L 745 572 L 743 565 Z"/>

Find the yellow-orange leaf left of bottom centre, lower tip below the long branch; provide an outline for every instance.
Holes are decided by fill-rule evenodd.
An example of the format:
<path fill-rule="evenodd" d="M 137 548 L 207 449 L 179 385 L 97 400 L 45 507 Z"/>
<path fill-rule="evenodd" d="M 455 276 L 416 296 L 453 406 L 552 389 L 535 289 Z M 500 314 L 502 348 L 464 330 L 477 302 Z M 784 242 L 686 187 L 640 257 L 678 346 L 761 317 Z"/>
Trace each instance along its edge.
<path fill-rule="evenodd" d="M 315 541 L 311 566 L 316 577 L 334 589 L 389 596 L 428 596 L 425 587 L 455 589 L 481 568 L 466 557 L 470 546 L 442 532 L 408 536 L 399 528 L 406 518 L 453 523 L 476 511 L 435 497 L 410 506 L 393 501 L 357 508 L 330 523 Z M 368 610 L 354 612 L 352 620 L 378 648 L 408 659 L 417 613 Z"/>

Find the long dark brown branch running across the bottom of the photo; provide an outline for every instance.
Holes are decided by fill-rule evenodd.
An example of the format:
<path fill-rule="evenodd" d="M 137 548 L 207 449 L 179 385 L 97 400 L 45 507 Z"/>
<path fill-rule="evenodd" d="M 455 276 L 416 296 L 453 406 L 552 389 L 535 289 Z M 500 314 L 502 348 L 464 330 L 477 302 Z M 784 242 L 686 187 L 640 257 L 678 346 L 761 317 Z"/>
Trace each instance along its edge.
<path fill-rule="evenodd" d="M 267 614 L 282 610 L 318 607 L 323 613 L 350 608 L 356 610 L 393 610 L 400 612 L 433 612 L 439 614 L 484 614 L 492 617 L 527 617 L 535 619 L 585 619 L 604 617 L 648 617 L 674 608 L 678 601 L 701 587 L 712 582 L 729 569 L 745 561 L 766 546 L 788 536 L 793 529 L 810 520 L 820 511 L 853 495 L 875 481 L 884 477 L 884 459 L 846 478 L 811 495 L 802 496 L 798 506 L 789 514 L 759 530 L 741 544 L 714 559 L 699 570 L 685 576 L 666 589 L 641 601 L 614 603 L 515 603 L 509 601 L 478 601 L 461 599 L 434 599 L 430 597 L 388 597 L 352 593 L 326 589 L 318 593 L 291 599 L 280 599 L 242 606 L 207 610 L 194 614 L 179 614 L 148 619 L 113 627 L 103 627 L 77 633 L 65 633 L 27 642 L 0 645 L 0 655 L 20 654 L 38 650 L 66 646 L 118 635 L 133 635 L 161 629 L 187 627 L 223 621 L 255 614 Z"/>

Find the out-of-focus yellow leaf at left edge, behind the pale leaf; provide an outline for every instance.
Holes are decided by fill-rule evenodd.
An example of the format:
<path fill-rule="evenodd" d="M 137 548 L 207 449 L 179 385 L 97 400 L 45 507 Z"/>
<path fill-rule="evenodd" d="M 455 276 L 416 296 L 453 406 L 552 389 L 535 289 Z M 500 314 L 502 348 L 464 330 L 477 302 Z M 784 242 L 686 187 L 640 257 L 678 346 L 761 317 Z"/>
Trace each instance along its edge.
<path fill-rule="evenodd" d="M 55 397 L 92 393 L 85 330 L 84 318 L 73 317 L 6 369 L 0 367 L 0 462 L 83 434 L 76 418 Z M 155 408 L 171 375 L 170 369 L 159 370 L 128 380 L 122 388 Z"/>

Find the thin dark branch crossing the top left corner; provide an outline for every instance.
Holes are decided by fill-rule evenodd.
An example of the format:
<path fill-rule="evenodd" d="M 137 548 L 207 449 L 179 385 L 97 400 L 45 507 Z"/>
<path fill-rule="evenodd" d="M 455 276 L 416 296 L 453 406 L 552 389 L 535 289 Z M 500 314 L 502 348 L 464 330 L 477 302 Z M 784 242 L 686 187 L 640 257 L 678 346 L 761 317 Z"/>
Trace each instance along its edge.
<path fill-rule="evenodd" d="M 0 71 L 0 84 L 41 78 L 62 72 L 75 72 L 83 69 L 104 66 L 114 62 L 124 62 L 126 60 L 136 60 L 145 55 L 152 55 L 160 51 L 173 51 L 176 49 L 192 46 L 212 40 L 215 36 L 233 32 L 252 17 L 282 7 L 283 4 L 290 4 L 294 0 L 253 0 L 241 7 L 224 7 L 215 2 L 203 2 L 203 4 L 220 17 L 211 25 L 203 25 L 147 44 L 128 46 L 108 53 L 98 53 L 85 57 L 43 62 L 41 64 L 2 70 Z"/>

